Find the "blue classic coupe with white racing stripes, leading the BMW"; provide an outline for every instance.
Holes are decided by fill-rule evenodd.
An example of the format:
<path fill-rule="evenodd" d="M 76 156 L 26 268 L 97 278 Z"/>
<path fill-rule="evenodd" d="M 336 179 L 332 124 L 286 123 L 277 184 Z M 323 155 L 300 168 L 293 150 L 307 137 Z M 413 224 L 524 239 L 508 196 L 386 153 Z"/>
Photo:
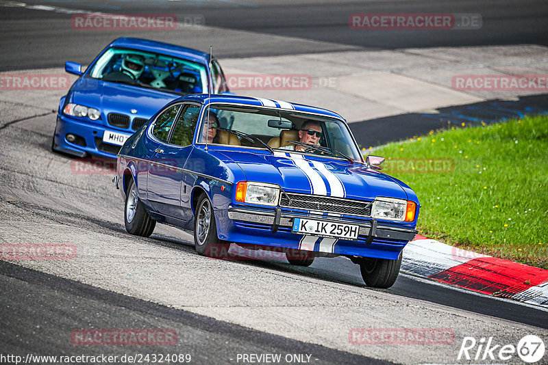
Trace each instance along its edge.
<path fill-rule="evenodd" d="M 114 183 L 125 228 L 193 230 L 197 252 L 236 243 L 282 251 L 293 265 L 345 256 L 368 286 L 388 288 L 416 234 L 419 200 L 362 157 L 337 113 L 264 98 L 188 95 L 129 137 Z M 223 254 L 224 253 L 224 254 Z"/>

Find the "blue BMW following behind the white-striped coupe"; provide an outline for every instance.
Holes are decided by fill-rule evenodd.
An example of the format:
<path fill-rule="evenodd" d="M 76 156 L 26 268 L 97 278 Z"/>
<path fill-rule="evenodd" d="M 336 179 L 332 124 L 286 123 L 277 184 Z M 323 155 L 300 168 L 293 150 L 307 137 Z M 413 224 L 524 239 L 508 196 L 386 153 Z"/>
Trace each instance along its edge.
<path fill-rule="evenodd" d="M 51 150 L 116 158 L 127 137 L 169 101 L 182 95 L 228 92 L 219 62 L 194 49 L 152 40 L 119 38 L 82 66 L 59 103 Z"/>

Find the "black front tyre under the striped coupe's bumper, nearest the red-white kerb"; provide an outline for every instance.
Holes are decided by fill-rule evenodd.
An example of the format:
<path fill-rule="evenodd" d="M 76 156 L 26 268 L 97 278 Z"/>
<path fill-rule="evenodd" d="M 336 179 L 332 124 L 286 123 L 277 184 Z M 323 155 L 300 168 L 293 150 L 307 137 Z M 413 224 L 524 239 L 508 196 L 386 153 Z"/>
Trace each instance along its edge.
<path fill-rule="evenodd" d="M 401 267 L 401 252 L 397 260 L 370 258 L 360 263 L 362 278 L 372 288 L 390 288 L 396 282 Z"/>

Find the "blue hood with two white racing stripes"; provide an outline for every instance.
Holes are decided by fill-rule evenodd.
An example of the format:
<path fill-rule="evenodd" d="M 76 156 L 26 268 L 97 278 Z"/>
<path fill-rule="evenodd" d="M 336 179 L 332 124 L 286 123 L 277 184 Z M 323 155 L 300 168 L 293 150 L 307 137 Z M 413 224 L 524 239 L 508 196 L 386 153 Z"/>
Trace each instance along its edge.
<path fill-rule="evenodd" d="M 240 166 L 247 181 L 277 184 L 284 191 L 358 200 L 374 200 L 377 196 L 408 198 L 393 178 L 360 163 L 285 152 L 231 150 L 222 154 Z"/>

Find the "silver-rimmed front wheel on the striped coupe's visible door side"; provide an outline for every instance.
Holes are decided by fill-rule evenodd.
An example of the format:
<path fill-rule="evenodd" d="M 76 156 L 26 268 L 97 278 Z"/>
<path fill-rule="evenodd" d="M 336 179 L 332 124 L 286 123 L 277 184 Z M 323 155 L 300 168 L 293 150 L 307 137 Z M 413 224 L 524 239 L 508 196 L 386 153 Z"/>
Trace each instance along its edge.
<path fill-rule="evenodd" d="M 200 195 L 197 207 L 194 214 L 194 244 L 196 252 L 202 256 L 211 258 L 226 258 L 230 246 L 217 237 L 215 215 L 208 195 Z"/>

